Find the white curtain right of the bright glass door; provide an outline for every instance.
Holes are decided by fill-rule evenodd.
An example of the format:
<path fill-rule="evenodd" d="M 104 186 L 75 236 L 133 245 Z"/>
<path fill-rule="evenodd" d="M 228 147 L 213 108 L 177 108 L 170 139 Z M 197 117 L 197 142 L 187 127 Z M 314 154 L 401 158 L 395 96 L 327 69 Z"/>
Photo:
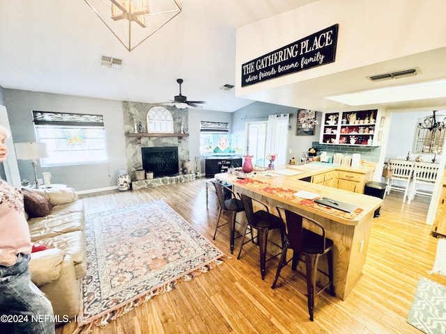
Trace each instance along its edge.
<path fill-rule="evenodd" d="M 286 162 L 289 118 L 288 113 L 268 116 L 266 155 L 277 154 L 277 159 L 274 161 L 276 165 L 282 165 Z M 266 157 L 265 164 L 268 166 Z"/>

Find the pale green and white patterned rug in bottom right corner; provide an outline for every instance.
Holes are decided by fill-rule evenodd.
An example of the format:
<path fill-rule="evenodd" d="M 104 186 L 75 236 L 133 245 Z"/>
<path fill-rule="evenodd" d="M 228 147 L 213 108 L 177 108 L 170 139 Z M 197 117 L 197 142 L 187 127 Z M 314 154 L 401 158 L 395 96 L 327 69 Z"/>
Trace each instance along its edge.
<path fill-rule="evenodd" d="M 426 334 L 445 334 L 446 287 L 420 278 L 407 322 Z"/>

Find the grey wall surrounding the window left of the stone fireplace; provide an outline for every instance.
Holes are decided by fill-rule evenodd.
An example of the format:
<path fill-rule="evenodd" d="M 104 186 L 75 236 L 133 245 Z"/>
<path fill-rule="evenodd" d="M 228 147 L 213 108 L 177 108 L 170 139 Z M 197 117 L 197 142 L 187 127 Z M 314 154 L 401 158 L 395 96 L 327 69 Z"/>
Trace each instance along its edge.
<path fill-rule="evenodd" d="M 119 168 L 127 166 L 125 158 L 125 137 L 123 108 L 121 101 L 100 100 L 70 95 L 35 93 L 25 90 L 4 89 L 6 108 L 14 143 L 36 141 L 31 111 L 57 111 L 66 113 L 92 113 L 104 115 L 108 164 L 85 164 L 41 168 L 52 174 L 51 182 L 67 184 L 77 191 L 116 187 Z M 33 180 L 30 161 L 18 160 L 20 175 Z"/>

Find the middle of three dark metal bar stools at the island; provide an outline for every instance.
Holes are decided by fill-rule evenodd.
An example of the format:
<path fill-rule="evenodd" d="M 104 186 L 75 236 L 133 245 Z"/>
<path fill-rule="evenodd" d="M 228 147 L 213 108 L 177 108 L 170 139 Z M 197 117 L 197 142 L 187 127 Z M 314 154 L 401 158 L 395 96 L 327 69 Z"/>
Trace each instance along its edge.
<path fill-rule="evenodd" d="M 242 244 L 240 245 L 240 251 L 238 252 L 237 260 L 240 260 L 240 254 L 242 253 L 243 245 L 246 244 L 248 241 L 245 242 L 245 236 L 248 226 L 251 229 L 257 230 L 257 244 L 260 248 L 260 273 L 262 276 L 262 280 L 265 279 L 265 269 L 266 269 L 266 262 L 271 260 L 273 257 L 276 257 L 279 254 L 273 255 L 268 260 L 266 260 L 266 244 L 268 242 L 268 232 L 269 230 L 279 229 L 280 235 L 282 237 L 282 248 L 285 244 L 285 225 L 282 221 L 282 218 L 279 218 L 278 216 L 275 216 L 274 214 L 270 214 L 268 207 L 264 205 L 259 200 L 256 200 L 255 198 L 249 197 L 245 195 L 244 193 L 239 193 L 240 197 L 243 200 L 243 205 L 245 206 L 245 214 L 247 218 L 247 224 L 245 225 L 245 231 L 243 232 L 242 237 Z M 254 208 L 252 203 L 257 202 L 260 205 L 262 205 L 265 209 L 264 210 L 257 210 L 254 212 Z"/>

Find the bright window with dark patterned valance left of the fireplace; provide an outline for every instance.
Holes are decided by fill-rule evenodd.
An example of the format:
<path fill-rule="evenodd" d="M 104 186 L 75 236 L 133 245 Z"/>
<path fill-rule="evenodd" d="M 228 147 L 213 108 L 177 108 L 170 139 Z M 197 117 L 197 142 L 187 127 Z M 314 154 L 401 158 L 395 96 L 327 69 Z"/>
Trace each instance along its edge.
<path fill-rule="evenodd" d="M 102 115 L 33 111 L 37 141 L 47 143 L 43 167 L 108 161 Z"/>

